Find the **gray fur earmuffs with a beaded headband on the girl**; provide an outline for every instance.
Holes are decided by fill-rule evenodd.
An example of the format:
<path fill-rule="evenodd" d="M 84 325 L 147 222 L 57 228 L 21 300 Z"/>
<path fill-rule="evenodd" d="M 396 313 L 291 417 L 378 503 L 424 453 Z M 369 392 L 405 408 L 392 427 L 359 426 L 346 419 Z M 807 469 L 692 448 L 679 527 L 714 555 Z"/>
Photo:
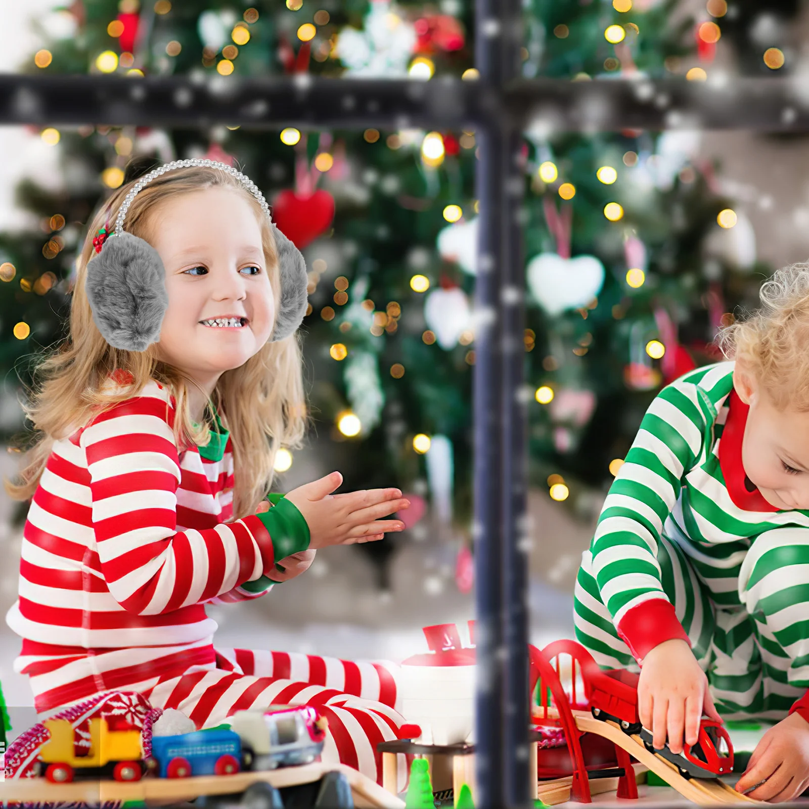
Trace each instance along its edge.
<path fill-rule="evenodd" d="M 125 197 L 115 229 L 104 239 L 101 252 L 87 263 L 87 300 L 93 320 L 102 337 L 116 349 L 145 351 L 159 341 L 160 328 L 168 307 L 166 270 L 159 253 L 146 239 L 127 233 L 124 219 L 135 195 L 155 177 L 175 168 L 204 166 L 218 168 L 239 180 L 260 202 L 267 217 L 269 205 L 247 176 L 228 166 L 207 159 L 175 160 L 143 176 Z M 270 220 L 272 221 L 272 220 Z M 273 235 L 281 275 L 281 300 L 270 341 L 289 337 L 303 322 L 307 309 L 306 261 L 298 248 L 277 229 Z"/>

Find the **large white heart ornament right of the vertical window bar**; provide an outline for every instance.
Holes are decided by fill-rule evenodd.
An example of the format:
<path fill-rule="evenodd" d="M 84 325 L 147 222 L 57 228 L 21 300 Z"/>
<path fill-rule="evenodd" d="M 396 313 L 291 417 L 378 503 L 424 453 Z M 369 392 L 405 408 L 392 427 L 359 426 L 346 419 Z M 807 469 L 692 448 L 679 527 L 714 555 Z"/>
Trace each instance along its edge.
<path fill-rule="evenodd" d="M 549 315 L 587 306 L 604 285 L 604 265 L 595 256 L 540 253 L 528 263 L 526 275 L 536 303 Z"/>

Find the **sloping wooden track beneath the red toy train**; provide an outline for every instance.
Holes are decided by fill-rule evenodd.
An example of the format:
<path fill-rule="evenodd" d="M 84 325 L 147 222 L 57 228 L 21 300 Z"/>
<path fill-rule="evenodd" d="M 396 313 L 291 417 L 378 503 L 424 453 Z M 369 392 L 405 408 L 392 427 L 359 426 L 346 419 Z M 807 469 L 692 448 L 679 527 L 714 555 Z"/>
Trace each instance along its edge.
<path fill-rule="evenodd" d="M 674 787 L 684 798 L 698 803 L 701 806 L 714 806 L 717 803 L 765 803 L 748 798 L 740 792 L 736 792 L 719 778 L 684 778 L 680 775 L 675 765 L 667 761 L 657 753 L 650 753 L 646 750 L 640 736 L 629 736 L 621 730 L 614 722 L 603 722 L 596 719 L 587 711 L 574 710 L 576 726 L 581 731 L 595 733 L 609 739 L 621 748 L 624 748 L 634 759 L 646 765 L 653 773 L 659 775 L 669 786 Z"/>

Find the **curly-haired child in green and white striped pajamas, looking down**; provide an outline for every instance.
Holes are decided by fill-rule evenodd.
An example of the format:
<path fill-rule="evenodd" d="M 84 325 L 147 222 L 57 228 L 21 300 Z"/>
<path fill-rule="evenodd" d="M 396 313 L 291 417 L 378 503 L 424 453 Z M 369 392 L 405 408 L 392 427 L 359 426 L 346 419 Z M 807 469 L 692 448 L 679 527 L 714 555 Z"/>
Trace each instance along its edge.
<path fill-rule="evenodd" d="M 720 335 L 734 362 L 652 402 L 582 557 L 574 620 L 601 665 L 641 667 L 656 748 L 695 743 L 703 710 L 780 720 L 736 784 L 780 802 L 809 784 L 809 265 L 760 297 Z"/>

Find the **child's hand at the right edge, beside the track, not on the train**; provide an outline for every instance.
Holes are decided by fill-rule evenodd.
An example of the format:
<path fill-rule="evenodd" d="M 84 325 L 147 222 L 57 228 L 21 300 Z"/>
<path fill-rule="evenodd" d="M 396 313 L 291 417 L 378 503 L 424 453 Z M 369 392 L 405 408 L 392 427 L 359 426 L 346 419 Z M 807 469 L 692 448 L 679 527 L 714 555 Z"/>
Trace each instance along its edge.
<path fill-rule="evenodd" d="M 736 782 L 736 791 L 744 792 L 761 781 L 765 783 L 748 793 L 758 801 L 791 801 L 807 788 L 809 722 L 800 714 L 790 714 L 761 737 L 748 769 Z"/>

